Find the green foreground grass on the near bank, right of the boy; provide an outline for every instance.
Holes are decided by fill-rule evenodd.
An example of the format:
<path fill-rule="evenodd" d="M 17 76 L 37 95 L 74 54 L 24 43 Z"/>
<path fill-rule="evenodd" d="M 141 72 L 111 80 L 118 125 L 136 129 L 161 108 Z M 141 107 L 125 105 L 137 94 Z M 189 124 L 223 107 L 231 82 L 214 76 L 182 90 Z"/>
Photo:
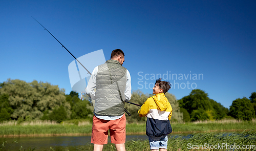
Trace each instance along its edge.
<path fill-rule="evenodd" d="M 242 145 L 254 145 L 256 149 L 256 132 L 255 131 L 243 131 L 240 133 L 197 133 L 191 137 L 185 139 L 183 136 L 177 138 L 171 138 L 168 140 L 167 150 L 229 150 L 231 145 L 241 146 Z M 194 145 L 195 148 L 192 148 Z M 201 145 L 201 147 L 200 147 Z M 223 147 L 218 147 L 223 145 Z M 225 145 L 225 146 L 224 146 Z M 229 147 L 227 146 L 229 145 Z M 207 148 L 206 148 L 207 147 Z M 216 148 L 214 148 L 216 147 Z M 232 149 L 231 149 L 232 150 Z M 241 149 L 244 150 L 244 149 Z M 253 149 L 248 149 L 253 150 Z"/>

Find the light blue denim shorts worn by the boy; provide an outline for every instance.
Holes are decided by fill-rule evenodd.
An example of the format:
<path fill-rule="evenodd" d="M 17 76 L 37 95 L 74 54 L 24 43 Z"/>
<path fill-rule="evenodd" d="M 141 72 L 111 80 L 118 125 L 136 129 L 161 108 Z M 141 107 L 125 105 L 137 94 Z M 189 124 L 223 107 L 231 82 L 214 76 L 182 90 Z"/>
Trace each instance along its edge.
<path fill-rule="evenodd" d="M 148 140 L 150 141 L 150 149 L 167 149 L 167 142 L 168 137 L 167 135 L 155 137 L 155 136 L 148 136 Z"/>

